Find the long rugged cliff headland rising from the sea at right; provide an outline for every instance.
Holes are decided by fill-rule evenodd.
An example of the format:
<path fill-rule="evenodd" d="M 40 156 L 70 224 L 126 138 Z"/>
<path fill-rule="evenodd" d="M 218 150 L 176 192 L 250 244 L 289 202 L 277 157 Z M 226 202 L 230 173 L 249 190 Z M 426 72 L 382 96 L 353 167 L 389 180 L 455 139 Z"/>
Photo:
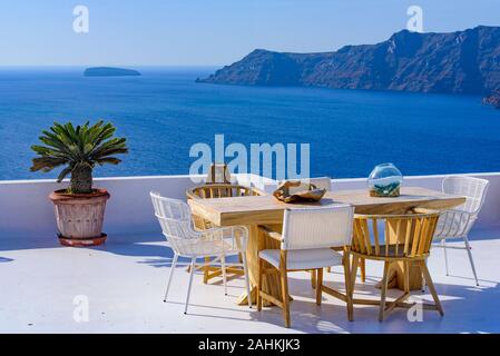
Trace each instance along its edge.
<path fill-rule="evenodd" d="M 452 33 L 403 30 L 384 42 L 336 52 L 255 50 L 198 81 L 489 96 L 500 89 L 500 27 Z"/>

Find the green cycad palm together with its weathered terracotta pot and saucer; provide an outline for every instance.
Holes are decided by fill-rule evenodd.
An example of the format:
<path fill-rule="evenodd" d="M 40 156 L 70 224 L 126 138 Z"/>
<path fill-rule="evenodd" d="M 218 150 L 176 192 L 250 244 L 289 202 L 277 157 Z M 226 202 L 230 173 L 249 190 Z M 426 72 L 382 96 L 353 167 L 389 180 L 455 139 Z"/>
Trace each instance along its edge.
<path fill-rule="evenodd" d="M 31 171 L 49 172 L 63 167 L 58 182 L 71 175 L 69 188 L 49 197 L 55 205 L 59 240 L 65 246 L 98 246 L 106 240 L 102 221 L 110 196 L 106 189 L 92 187 L 92 170 L 106 164 L 118 165 L 121 160 L 115 156 L 128 152 L 126 139 L 114 137 L 115 130 L 104 121 L 77 127 L 56 122 L 50 131 L 43 130 L 43 146 L 31 147 L 38 155 Z"/>

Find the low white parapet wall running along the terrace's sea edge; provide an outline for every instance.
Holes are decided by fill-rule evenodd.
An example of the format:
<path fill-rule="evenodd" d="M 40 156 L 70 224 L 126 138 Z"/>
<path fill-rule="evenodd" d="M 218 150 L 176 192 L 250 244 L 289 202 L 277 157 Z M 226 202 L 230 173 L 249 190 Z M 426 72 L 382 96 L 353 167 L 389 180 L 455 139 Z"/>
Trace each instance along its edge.
<path fill-rule="evenodd" d="M 500 224 L 500 172 L 473 174 L 490 181 L 490 188 L 477 227 L 484 228 Z M 404 185 L 441 189 L 444 176 L 406 177 Z M 267 192 L 276 187 L 275 181 L 258 176 L 237 176 L 243 185 L 252 185 Z M 120 241 L 161 239 L 149 198 L 150 191 L 166 197 L 185 199 L 186 189 L 195 186 L 189 176 L 131 177 L 95 179 L 98 187 L 111 194 L 106 211 L 105 231 Z M 7 239 L 30 240 L 36 245 L 57 234 L 51 191 L 63 188 L 53 180 L 0 181 L 0 244 Z M 335 179 L 333 189 L 365 188 L 365 179 Z M 2 246 L 0 245 L 0 249 Z"/>

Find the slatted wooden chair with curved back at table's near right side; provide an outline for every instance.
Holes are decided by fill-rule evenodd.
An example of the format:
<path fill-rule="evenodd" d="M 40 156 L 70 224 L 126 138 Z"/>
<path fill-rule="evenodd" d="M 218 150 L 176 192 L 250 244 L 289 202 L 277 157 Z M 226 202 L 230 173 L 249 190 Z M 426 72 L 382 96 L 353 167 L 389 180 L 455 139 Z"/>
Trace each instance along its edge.
<path fill-rule="evenodd" d="M 355 276 L 360 258 L 384 263 L 381 300 L 355 299 L 354 304 L 380 305 L 379 320 L 383 322 L 386 313 L 395 307 L 412 307 L 404 303 L 410 297 L 410 266 L 418 266 L 429 286 L 434 305 L 424 305 L 425 309 L 438 310 L 444 315 L 434 285 L 425 265 L 434 235 L 439 211 L 415 209 L 408 215 L 355 215 L 354 234 L 351 246 L 352 287 L 354 293 Z M 380 233 L 383 230 L 382 233 Z M 398 266 L 394 266 L 398 264 Z M 389 274 L 392 267 L 402 268 L 404 273 L 404 293 L 394 301 L 386 301 Z M 419 276 L 421 278 L 421 276 Z"/>

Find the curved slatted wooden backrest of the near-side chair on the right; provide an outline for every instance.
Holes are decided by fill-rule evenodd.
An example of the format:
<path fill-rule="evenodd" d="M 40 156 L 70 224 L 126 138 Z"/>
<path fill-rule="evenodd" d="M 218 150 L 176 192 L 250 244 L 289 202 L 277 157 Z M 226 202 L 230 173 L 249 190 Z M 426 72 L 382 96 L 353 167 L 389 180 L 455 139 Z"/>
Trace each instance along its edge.
<path fill-rule="evenodd" d="M 440 211 L 408 215 L 356 215 L 351 251 L 375 259 L 429 255 Z"/>

